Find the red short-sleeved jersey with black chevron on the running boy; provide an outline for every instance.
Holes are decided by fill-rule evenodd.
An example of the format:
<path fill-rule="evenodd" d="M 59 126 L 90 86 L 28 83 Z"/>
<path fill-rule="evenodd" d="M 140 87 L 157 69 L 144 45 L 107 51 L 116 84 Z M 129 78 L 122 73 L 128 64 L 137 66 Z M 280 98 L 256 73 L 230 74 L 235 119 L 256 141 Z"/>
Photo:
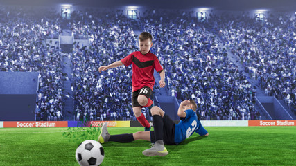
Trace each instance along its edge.
<path fill-rule="evenodd" d="M 153 90 L 155 79 L 153 76 L 154 69 L 162 71 L 162 66 L 159 60 L 153 53 L 143 55 L 140 51 L 136 51 L 121 59 L 125 66 L 132 64 L 132 91 L 137 91 L 144 86 L 150 87 Z"/>

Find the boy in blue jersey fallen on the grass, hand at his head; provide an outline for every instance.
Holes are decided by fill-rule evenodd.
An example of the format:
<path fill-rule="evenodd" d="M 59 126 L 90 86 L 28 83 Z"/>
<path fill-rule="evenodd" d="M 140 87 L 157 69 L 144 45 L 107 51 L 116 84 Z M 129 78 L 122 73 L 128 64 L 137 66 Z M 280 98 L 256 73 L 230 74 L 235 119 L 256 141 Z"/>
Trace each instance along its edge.
<path fill-rule="evenodd" d="M 193 132 L 200 136 L 209 136 L 195 111 L 197 109 L 194 100 L 184 100 L 181 102 L 177 111 L 180 116 L 179 124 L 175 124 L 166 113 L 155 106 L 152 107 L 154 131 L 139 131 L 137 133 L 124 133 L 119 135 L 110 135 L 107 131 L 107 122 L 101 128 L 101 134 L 98 136 L 98 142 L 132 142 L 134 140 L 148 140 L 154 143 L 153 147 L 143 151 L 145 156 L 166 156 L 168 151 L 164 145 L 177 145 L 189 138 Z"/>

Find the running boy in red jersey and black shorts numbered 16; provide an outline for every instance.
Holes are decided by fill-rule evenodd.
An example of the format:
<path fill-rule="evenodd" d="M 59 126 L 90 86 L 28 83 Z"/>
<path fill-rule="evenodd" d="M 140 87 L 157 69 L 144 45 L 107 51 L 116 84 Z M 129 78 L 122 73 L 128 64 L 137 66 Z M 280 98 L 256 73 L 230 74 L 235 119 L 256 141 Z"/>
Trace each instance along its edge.
<path fill-rule="evenodd" d="M 156 55 L 150 53 L 152 47 L 152 35 L 143 32 L 139 35 L 139 48 L 136 51 L 126 56 L 125 58 L 114 62 L 108 66 L 100 66 L 98 71 L 106 71 L 110 68 L 122 66 L 129 66 L 132 64 L 132 111 L 137 120 L 145 127 L 145 131 L 150 131 L 150 124 L 141 112 L 142 107 L 148 107 L 149 111 L 154 106 L 153 100 L 149 97 L 153 92 L 155 78 L 153 76 L 154 69 L 160 75 L 159 86 L 163 88 L 166 83 L 164 82 L 164 69 L 159 63 Z"/>

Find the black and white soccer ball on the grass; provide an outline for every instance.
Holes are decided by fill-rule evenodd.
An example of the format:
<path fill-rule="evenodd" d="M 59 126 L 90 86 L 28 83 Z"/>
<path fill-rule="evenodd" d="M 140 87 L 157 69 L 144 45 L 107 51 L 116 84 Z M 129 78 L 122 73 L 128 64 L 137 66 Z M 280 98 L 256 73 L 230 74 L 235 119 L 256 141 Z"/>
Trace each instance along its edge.
<path fill-rule="evenodd" d="M 96 140 L 85 140 L 76 149 L 76 160 L 81 166 L 100 165 L 104 149 Z"/>

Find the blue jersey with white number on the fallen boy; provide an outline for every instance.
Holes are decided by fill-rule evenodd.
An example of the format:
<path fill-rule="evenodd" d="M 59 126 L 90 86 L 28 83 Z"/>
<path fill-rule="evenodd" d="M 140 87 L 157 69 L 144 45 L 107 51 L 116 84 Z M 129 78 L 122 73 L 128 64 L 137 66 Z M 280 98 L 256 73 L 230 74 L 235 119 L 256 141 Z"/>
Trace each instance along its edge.
<path fill-rule="evenodd" d="M 202 127 L 198 116 L 192 109 L 185 111 L 186 117 L 181 118 L 181 121 L 175 125 L 175 143 L 179 144 L 186 138 L 189 138 L 193 132 L 198 133 L 200 136 L 207 134 L 207 130 Z"/>

